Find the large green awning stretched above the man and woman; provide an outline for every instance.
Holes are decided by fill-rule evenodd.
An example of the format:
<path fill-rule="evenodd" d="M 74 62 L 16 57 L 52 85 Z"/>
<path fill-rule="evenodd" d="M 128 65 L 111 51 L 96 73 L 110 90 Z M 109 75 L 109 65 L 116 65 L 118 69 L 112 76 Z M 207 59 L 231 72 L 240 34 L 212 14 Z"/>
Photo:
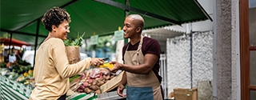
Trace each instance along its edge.
<path fill-rule="evenodd" d="M 123 25 L 125 10 L 141 14 L 145 29 L 212 19 L 196 0 L 4 0 L 1 1 L 1 33 L 13 33 L 13 38 L 34 44 L 46 38 L 42 15 L 53 6 L 62 6 L 70 13 L 69 38 L 84 38 L 114 34 Z M 39 23 L 38 23 L 39 22 Z M 38 29 L 38 34 L 37 34 Z M 24 35 L 25 34 L 25 35 Z"/>

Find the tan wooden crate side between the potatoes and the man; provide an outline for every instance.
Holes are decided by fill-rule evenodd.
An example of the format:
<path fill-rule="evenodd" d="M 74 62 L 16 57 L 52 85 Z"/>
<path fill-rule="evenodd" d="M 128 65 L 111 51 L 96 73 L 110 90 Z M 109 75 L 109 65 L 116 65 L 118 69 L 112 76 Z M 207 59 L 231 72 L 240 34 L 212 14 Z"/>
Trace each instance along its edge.
<path fill-rule="evenodd" d="M 102 93 L 106 93 L 110 90 L 113 90 L 114 88 L 119 86 L 119 82 L 122 80 L 122 74 L 124 71 L 122 71 L 120 74 L 115 76 L 114 78 L 110 79 L 110 81 L 106 82 L 102 86 L 100 86 L 100 90 Z"/>

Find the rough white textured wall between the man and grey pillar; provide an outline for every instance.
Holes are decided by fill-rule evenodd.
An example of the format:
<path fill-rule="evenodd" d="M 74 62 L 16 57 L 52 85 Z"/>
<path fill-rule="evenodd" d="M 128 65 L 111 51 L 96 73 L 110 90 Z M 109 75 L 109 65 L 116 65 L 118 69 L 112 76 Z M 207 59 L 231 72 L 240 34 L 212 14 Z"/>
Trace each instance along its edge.
<path fill-rule="evenodd" d="M 193 35 L 193 87 L 198 81 L 213 79 L 213 33 L 211 31 L 198 32 Z M 168 38 L 167 46 L 167 80 L 168 93 L 174 88 L 191 87 L 190 74 L 190 37 L 180 36 Z"/>

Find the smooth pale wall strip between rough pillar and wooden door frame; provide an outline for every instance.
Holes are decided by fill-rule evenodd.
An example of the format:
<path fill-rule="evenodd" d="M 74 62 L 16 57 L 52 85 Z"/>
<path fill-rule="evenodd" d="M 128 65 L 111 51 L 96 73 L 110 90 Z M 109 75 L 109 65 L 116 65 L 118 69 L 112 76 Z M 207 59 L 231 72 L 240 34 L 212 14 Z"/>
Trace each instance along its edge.
<path fill-rule="evenodd" d="M 240 30 L 239 30 L 239 0 L 232 0 L 231 2 L 231 49 L 232 49 L 232 89 L 231 89 L 231 99 L 240 100 L 241 99 L 241 77 L 240 77 Z"/>

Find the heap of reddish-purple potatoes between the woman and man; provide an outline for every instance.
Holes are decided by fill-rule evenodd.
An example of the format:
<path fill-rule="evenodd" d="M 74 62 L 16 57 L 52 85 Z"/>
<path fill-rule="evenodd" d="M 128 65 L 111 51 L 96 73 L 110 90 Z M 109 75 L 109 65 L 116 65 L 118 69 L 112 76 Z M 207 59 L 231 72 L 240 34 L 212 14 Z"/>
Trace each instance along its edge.
<path fill-rule="evenodd" d="M 115 74 L 110 73 L 107 68 L 93 68 L 86 70 L 77 82 L 71 82 L 70 86 L 76 86 L 74 91 L 79 93 L 96 93 L 101 94 L 99 89 L 104 83 L 108 82 L 111 78 L 114 78 Z M 70 89 L 71 89 L 70 88 Z"/>

